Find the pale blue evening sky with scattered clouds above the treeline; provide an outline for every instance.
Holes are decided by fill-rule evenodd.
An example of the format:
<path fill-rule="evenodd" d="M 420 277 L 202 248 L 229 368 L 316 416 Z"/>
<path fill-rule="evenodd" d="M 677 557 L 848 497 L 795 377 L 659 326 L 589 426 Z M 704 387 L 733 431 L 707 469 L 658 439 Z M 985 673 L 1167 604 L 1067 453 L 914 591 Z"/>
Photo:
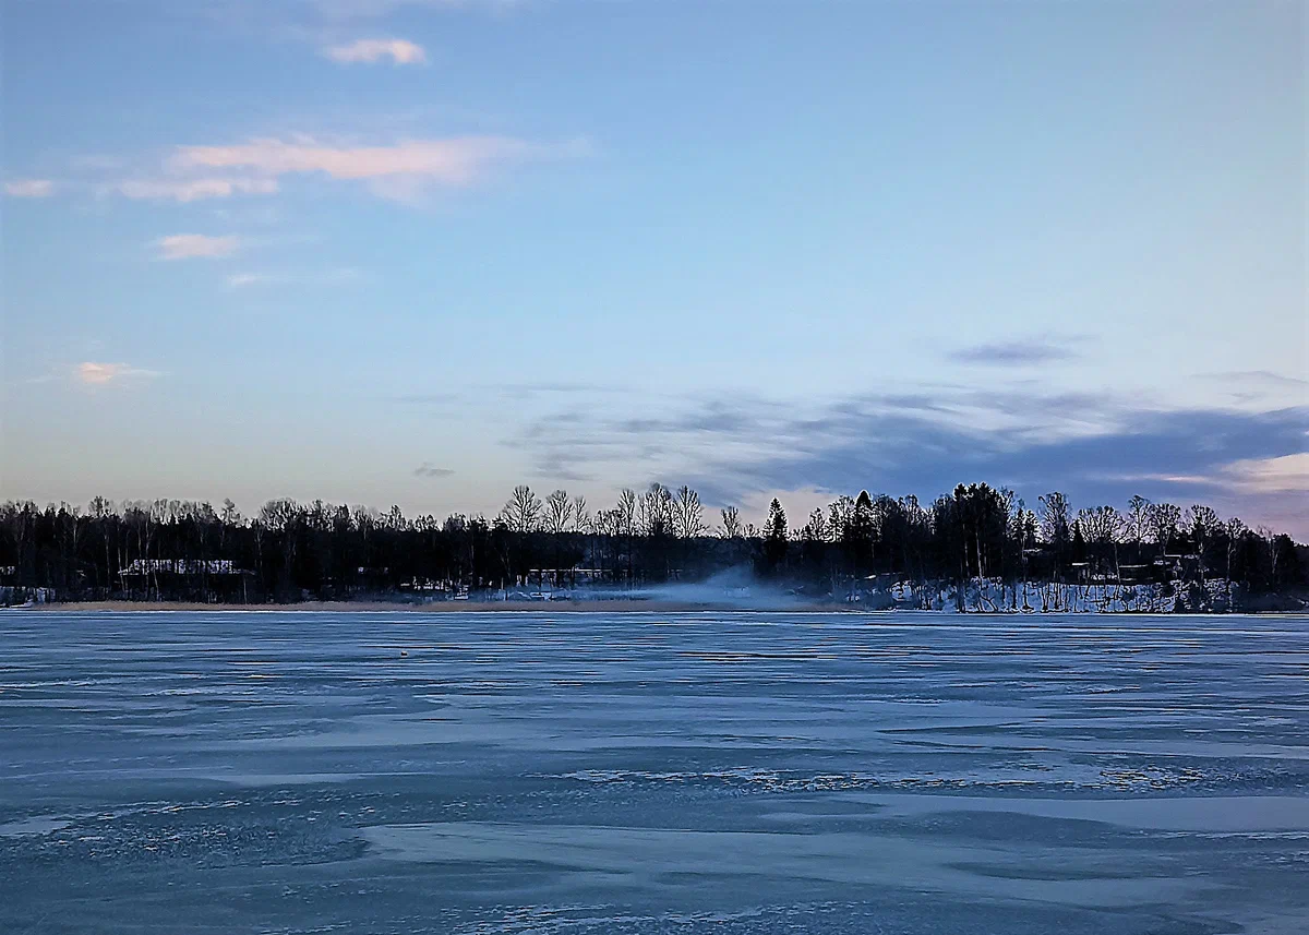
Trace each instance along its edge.
<path fill-rule="evenodd" d="M 0 43 L 3 499 L 987 481 L 1309 540 L 1302 3 L 0 0 Z"/>

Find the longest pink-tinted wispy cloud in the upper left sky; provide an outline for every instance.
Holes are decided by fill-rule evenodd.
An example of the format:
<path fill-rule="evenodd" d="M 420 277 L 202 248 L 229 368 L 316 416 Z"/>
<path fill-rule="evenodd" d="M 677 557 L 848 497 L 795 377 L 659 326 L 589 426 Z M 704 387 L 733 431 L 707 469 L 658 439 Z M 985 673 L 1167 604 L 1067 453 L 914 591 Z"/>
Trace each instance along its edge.
<path fill-rule="evenodd" d="M 182 147 L 169 164 L 177 172 L 242 169 L 262 178 L 318 174 L 364 181 L 377 194 L 399 196 L 428 185 L 467 186 L 493 166 L 586 152 L 584 143 L 550 145 L 511 136 L 452 136 L 390 145 L 332 145 L 301 136 Z"/>

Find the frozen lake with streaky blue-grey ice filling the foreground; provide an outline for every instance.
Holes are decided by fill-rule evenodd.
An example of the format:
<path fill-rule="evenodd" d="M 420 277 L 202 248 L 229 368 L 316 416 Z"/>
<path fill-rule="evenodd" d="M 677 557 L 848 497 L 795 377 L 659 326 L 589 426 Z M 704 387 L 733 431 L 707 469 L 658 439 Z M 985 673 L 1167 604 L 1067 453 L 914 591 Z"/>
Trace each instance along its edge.
<path fill-rule="evenodd" d="M 1309 931 L 1309 621 L 0 614 L 4 932 Z"/>

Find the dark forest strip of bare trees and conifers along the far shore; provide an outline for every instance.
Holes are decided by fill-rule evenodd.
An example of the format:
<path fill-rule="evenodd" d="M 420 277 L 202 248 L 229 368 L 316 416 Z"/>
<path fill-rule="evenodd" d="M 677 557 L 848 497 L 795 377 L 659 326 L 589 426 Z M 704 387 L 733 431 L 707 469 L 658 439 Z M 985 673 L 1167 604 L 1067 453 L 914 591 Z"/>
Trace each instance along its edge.
<path fill-rule="evenodd" d="M 878 584 L 1016 587 L 1028 581 L 1152 585 L 1221 580 L 1247 608 L 1301 606 L 1309 550 L 1206 505 L 1134 496 L 1075 508 L 1062 492 L 1029 504 L 987 483 L 923 505 L 867 491 L 792 524 L 772 500 L 761 525 L 712 516 L 690 487 L 584 496 L 518 486 L 492 519 L 408 517 L 321 500 L 93 499 L 0 505 L 0 600 L 196 601 L 529 600 L 623 593 L 737 570 L 816 602 L 857 600 Z"/>

